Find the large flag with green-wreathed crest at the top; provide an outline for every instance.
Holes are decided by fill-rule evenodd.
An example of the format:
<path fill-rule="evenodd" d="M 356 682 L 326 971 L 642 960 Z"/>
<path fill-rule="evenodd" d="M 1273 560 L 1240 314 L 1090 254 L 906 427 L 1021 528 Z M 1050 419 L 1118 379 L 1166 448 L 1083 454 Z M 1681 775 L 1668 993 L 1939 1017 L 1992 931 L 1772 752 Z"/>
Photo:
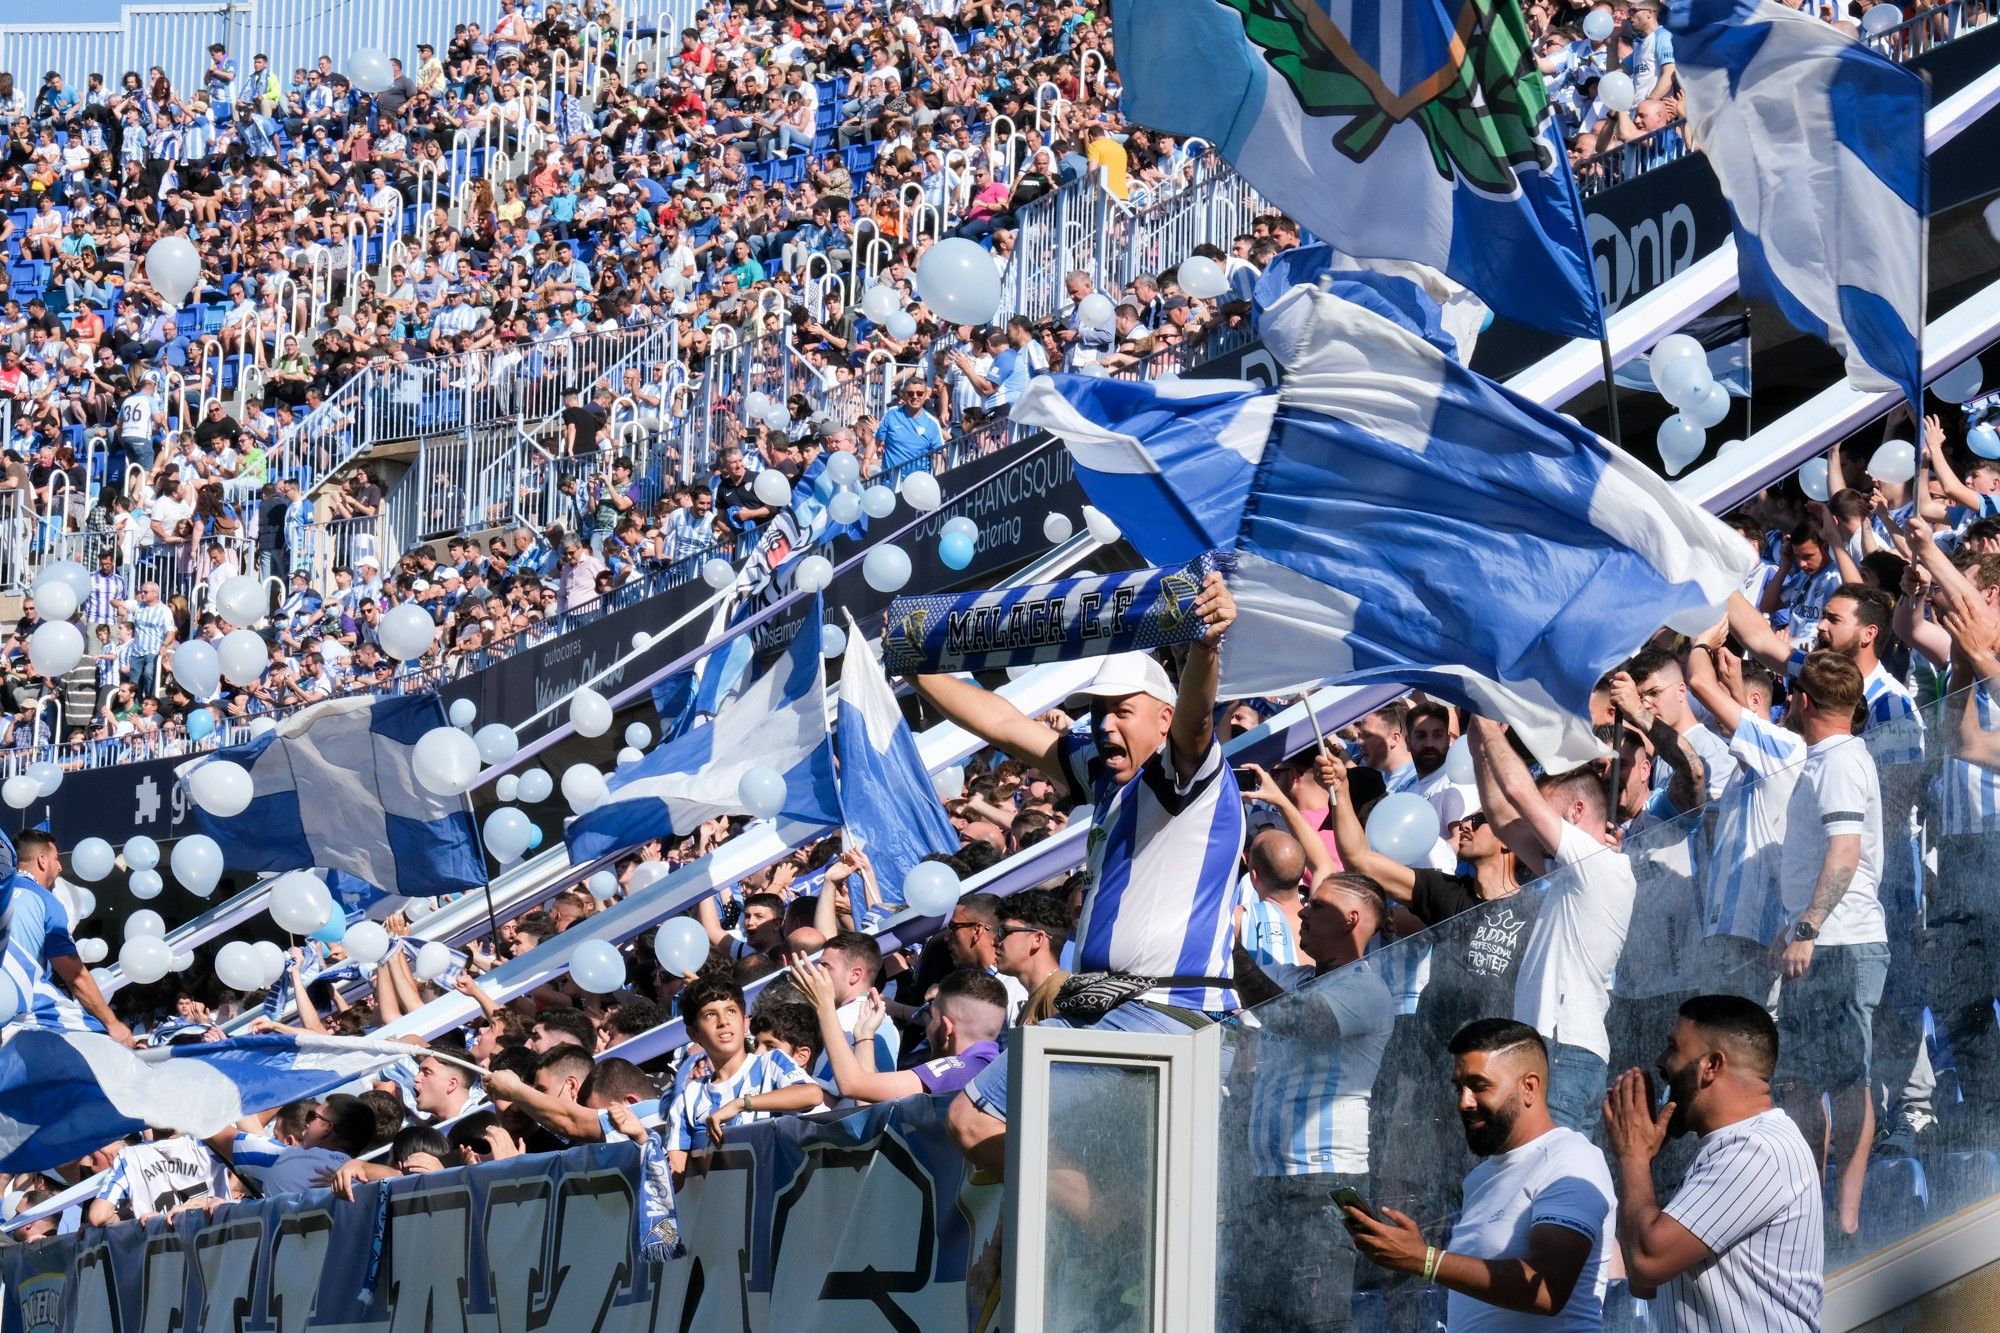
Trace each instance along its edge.
<path fill-rule="evenodd" d="M 1346 254 L 1604 336 L 1584 206 L 1514 0 L 1120 0 L 1124 110 L 1216 146 Z"/>

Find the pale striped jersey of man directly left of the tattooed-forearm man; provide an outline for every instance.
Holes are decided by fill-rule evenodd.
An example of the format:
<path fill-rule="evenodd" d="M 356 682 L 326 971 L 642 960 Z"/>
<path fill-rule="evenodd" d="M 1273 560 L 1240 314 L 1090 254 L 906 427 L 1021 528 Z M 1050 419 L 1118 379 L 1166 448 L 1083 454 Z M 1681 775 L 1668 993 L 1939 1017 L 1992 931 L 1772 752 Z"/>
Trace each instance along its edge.
<path fill-rule="evenodd" d="M 1784 925 L 1778 861 L 1784 809 L 1806 763 L 1806 741 L 1742 711 L 1730 737 L 1730 775 L 1716 801 L 1702 935 L 1768 945 Z"/>

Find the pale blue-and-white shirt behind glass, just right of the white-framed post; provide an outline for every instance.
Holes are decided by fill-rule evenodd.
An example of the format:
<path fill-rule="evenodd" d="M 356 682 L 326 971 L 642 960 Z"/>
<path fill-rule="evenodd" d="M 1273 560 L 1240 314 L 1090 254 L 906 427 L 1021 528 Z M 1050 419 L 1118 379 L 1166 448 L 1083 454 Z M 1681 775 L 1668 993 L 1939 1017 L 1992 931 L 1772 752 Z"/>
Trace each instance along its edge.
<path fill-rule="evenodd" d="M 1316 977 L 1268 967 L 1286 997 L 1258 1009 L 1250 1159 L 1258 1175 L 1368 1173 L 1368 1091 L 1396 1025 L 1372 965 Z"/>

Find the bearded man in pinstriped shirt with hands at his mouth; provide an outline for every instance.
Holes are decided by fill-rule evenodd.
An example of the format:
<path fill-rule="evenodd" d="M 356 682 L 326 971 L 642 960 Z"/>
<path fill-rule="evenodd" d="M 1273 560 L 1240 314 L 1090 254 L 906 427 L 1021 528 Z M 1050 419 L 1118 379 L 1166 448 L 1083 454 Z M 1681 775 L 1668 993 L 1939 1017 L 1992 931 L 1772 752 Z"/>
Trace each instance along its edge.
<path fill-rule="evenodd" d="M 1820 1327 L 1824 1237 L 1820 1171 L 1798 1125 L 1770 1095 L 1778 1025 L 1740 995 L 1680 1007 L 1656 1069 L 1668 1103 L 1628 1069 L 1604 1101 L 1618 1171 L 1618 1247 L 1634 1293 L 1670 1329 Z M 1700 1135 L 1680 1189 L 1654 1201 L 1652 1159 L 1670 1137 Z"/>

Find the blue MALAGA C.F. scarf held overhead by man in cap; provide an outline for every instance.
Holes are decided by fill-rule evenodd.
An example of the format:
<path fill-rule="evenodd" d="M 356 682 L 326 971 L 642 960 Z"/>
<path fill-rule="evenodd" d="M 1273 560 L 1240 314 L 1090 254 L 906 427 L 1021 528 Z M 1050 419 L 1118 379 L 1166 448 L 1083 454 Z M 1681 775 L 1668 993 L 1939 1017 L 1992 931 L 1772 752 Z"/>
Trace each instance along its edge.
<path fill-rule="evenodd" d="M 898 596 L 882 666 L 892 675 L 994 671 L 1146 652 L 1202 636 L 1194 598 L 1218 552 L 1180 568 L 1138 568 L 992 592 Z"/>

